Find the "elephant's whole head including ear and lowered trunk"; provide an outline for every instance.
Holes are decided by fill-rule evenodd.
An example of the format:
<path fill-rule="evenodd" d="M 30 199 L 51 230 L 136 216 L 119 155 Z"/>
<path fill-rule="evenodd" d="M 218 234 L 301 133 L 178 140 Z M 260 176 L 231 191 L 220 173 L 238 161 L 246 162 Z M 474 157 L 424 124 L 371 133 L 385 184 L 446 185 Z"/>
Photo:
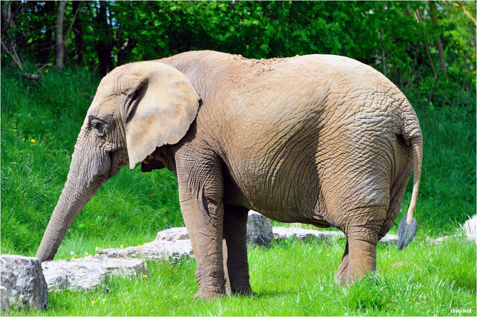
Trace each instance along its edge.
<path fill-rule="evenodd" d="M 133 169 L 156 147 L 179 142 L 196 117 L 199 100 L 183 73 L 160 62 L 131 63 L 106 75 L 84 119 L 36 257 L 53 259 L 74 218 L 122 166 Z"/>

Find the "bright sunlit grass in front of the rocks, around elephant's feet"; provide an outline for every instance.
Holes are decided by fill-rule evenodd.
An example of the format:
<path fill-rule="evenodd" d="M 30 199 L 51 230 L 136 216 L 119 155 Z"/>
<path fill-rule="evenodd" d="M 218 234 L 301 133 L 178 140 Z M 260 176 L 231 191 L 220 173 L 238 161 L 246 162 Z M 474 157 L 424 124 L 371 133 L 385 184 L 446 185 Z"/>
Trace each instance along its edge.
<path fill-rule="evenodd" d="M 417 241 L 404 251 L 379 244 L 377 274 L 342 288 L 333 277 L 344 244 L 285 241 L 250 248 L 250 284 L 257 297 L 197 301 L 192 298 L 197 291 L 194 259 L 177 265 L 147 261 L 147 277 L 113 278 L 107 295 L 102 290 L 50 293 L 47 309 L 34 315 L 449 316 L 452 307 L 471 308 L 467 315 L 475 315 L 475 243 Z M 33 315 L 11 315 L 16 314 Z"/>

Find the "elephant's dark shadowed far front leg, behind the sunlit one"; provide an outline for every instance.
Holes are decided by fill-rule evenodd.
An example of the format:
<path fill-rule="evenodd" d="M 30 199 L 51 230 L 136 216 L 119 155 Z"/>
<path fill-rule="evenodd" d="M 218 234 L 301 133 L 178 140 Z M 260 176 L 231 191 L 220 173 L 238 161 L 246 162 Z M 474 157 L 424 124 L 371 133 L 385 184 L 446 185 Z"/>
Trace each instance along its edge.
<path fill-rule="evenodd" d="M 227 294 L 255 295 L 250 288 L 247 261 L 248 209 L 224 205 L 222 250 Z"/>

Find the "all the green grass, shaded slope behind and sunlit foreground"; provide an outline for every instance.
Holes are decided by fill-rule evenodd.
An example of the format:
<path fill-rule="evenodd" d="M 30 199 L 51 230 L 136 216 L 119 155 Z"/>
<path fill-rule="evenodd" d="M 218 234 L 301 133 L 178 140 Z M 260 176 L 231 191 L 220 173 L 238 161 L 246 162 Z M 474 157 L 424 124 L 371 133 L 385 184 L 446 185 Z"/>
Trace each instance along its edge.
<path fill-rule="evenodd" d="M 2 69 L 1 253 L 35 255 L 98 83 L 85 71 L 66 69 L 45 73 L 38 87 Z M 475 100 L 475 92 L 471 95 Z M 449 307 L 472 307 L 475 316 L 475 244 L 455 240 L 432 246 L 422 241 L 427 236 L 454 234 L 459 224 L 475 214 L 476 102 L 467 102 L 471 108 L 444 108 L 430 107 L 418 98 L 410 101 L 424 133 L 415 211 L 419 231 L 416 242 L 404 251 L 378 247 L 377 277 L 337 287 L 332 278 L 343 241 L 330 245 L 284 242 L 249 250 L 256 298 L 195 301 L 195 261 L 190 259 L 176 266 L 149 262 L 151 274 L 145 280 L 113 280 L 104 303 L 101 293 L 51 294 L 49 308 L 35 314 L 449 315 Z M 390 233 L 397 232 L 411 185 L 412 178 L 403 212 Z M 182 224 L 172 173 L 124 168 L 78 215 L 55 258 L 64 259 L 71 251 L 94 254 L 95 246 L 142 244 L 154 240 L 158 231 Z M 394 268 L 396 262 L 405 265 Z"/>

